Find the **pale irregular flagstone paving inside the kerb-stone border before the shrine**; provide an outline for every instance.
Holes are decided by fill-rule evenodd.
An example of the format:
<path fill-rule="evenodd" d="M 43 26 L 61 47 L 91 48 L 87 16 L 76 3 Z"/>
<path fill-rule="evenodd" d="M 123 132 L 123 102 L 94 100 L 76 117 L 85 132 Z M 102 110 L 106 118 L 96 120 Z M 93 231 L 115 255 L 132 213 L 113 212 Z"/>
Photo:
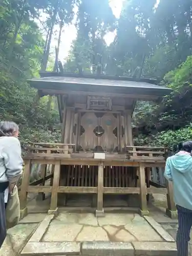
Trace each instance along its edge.
<path fill-rule="evenodd" d="M 138 214 L 105 214 L 104 218 L 95 218 L 93 214 L 66 212 L 51 222 L 42 241 L 161 242 L 163 238 Z"/>

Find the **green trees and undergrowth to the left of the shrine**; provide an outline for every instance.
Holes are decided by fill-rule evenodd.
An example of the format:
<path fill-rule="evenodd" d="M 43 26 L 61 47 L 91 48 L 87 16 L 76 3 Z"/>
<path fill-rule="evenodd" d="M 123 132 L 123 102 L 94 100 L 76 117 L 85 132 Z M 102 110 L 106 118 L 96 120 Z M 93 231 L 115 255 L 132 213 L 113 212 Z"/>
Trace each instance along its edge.
<path fill-rule="evenodd" d="M 56 104 L 47 110 L 48 97 L 37 99 L 27 79 L 38 75 L 45 41 L 32 17 L 44 1 L 3 1 L 0 19 L 0 120 L 20 127 L 20 141 L 59 141 Z M 53 99 L 54 101 L 54 99 Z"/>

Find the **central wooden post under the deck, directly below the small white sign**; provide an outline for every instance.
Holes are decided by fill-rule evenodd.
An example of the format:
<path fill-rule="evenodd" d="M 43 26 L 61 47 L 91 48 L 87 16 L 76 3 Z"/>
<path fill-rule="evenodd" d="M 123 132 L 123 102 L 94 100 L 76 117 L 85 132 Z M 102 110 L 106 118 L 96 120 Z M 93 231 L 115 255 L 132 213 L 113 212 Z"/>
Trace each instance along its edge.
<path fill-rule="evenodd" d="M 104 217 L 103 209 L 103 163 L 98 166 L 98 191 L 97 191 L 97 209 L 96 217 Z"/>

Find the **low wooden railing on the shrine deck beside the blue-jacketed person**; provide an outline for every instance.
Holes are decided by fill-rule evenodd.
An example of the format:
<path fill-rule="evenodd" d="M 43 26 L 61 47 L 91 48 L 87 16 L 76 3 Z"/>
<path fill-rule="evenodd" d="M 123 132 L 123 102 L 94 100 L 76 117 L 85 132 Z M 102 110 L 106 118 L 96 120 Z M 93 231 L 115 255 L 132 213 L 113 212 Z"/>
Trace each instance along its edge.
<path fill-rule="evenodd" d="M 130 160 L 165 160 L 168 155 L 167 147 L 126 146 Z"/>

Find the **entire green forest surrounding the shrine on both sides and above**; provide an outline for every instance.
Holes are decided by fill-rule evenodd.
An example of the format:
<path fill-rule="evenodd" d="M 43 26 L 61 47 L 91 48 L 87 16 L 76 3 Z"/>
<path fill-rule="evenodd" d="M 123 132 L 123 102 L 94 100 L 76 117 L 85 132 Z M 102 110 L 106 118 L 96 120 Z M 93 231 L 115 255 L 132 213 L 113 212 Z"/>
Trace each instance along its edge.
<path fill-rule="evenodd" d="M 78 7 L 77 39 L 65 71 L 158 77 L 173 93 L 162 102 L 138 102 L 133 116 L 136 144 L 169 145 L 190 138 L 192 123 L 192 3 L 190 0 L 127 0 L 117 20 L 108 0 L 2 0 L 0 6 L 0 119 L 20 125 L 23 145 L 60 139 L 55 98 L 37 99 L 27 79 L 56 68 L 50 58 L 54 26 L 60 32 Z M 43 32 L 34 22 L 47 16 Z M 103 39 L 116 31 L 114 42 Z M 57 55 L 61 41 L 58 37 Z M 187 57 L 188 56 L 188 57 Z M 50 104 L 51 102 L 51 104 Z"/>

